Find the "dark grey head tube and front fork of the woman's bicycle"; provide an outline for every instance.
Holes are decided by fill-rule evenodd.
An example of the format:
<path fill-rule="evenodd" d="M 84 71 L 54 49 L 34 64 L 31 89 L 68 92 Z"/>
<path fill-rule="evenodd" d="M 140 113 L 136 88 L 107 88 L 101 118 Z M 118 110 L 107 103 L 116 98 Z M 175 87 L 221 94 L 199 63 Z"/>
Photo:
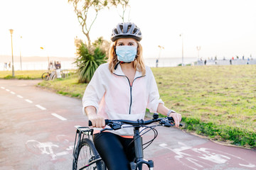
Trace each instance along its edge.
<path fill-rule="evenodd" d="M 154 162 L 152 160 L 145 160 L 143 154 L 142 137 L 139 135 L 139 127 L 134 127 L 134 149 L 135 149 L 135 162 L 131 162 L 132 170 L 142 170 L 142 164 L 146 164 L 149 170 L 153 170 Z"/>

